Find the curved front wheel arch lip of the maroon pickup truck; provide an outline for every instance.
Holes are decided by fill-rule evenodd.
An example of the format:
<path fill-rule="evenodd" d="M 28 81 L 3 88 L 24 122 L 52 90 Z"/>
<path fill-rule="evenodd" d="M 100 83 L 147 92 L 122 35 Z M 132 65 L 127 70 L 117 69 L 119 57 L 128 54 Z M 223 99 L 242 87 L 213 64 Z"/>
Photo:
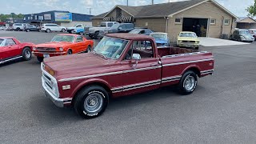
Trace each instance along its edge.
<path fill-rule="evenodd" d="M 87 79 L 84 82 L 81 82 L 78 86 L 75 87 L 74 91 L 71 94 L 72 98 L 74 98 L 78 93 L 78 91 L 81 90 L 84 86 L 89 86 L 89 85 L 99 85 L 107 89 L 106 90 L 107 92 L 111 92 L 111 89 L 110 89 L 111 86 L 106 81 L 100 78 L 91 78 L 91 79 Z"/>

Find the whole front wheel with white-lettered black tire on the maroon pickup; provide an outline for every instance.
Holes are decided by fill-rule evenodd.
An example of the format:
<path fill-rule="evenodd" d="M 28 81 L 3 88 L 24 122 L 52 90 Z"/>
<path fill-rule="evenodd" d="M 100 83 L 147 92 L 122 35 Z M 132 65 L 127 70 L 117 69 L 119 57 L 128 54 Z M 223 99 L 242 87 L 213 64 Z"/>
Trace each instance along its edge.
<path fill-rule="evenodd" d="M 96 118 L 109 103 L 109 95 L 102 86 L 86 86 L 74 98 L 74 110 L 82 118 Z"/>

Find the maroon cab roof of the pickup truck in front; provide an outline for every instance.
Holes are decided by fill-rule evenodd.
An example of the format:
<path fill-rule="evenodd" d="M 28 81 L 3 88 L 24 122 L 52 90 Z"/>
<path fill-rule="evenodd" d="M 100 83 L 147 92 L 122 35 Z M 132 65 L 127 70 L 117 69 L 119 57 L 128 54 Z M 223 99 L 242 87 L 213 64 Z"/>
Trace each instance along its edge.
<path fill-rule="evenodd" d="M 138 39 L 154 40 L 154 38 L 147 35 L 143 35 L 143 34 L 116 33 L 116 34 L 106 34 L 106 36 L 114 37 L 114 38 L 129 39 L 129 40 L 138 40 Z"/>

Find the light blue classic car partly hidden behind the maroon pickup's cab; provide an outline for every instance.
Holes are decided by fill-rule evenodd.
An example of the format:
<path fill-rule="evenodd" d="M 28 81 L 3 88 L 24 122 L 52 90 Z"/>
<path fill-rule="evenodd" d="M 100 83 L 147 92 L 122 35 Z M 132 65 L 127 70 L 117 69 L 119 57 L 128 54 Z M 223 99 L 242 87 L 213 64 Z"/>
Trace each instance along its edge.
<path fill-rule="evenodd" d="M 151 33 L 150 37 L 155 39 L 157 46 L 170 46 L 170 39 L 167 33 Z"/>

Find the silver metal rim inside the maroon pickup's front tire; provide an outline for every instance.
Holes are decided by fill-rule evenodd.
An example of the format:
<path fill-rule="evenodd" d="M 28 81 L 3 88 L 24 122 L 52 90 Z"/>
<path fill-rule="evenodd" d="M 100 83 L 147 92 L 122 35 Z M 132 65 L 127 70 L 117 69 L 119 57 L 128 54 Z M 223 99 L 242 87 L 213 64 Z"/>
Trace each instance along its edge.
<path fill-rule="evenodd" d="M 90 94 L 84 102 L 84 108 L 89 113 L 97 113 L 102 109 L 102 105 L 103 98 L 102 95 L 98 93 Z"/>

